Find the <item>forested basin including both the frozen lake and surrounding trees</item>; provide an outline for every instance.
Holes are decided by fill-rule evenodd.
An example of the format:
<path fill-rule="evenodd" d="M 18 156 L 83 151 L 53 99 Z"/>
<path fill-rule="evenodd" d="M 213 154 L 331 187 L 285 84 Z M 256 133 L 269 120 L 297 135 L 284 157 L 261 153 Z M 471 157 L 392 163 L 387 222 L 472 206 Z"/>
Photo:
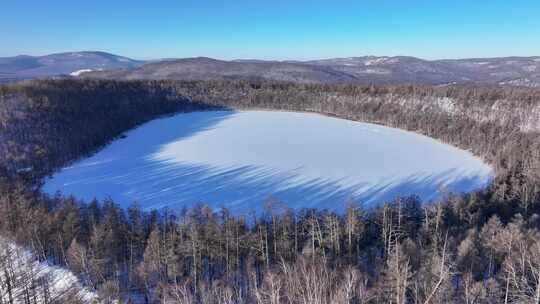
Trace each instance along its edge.
<path fill-rule="evenodd" d="M 350 303 L 354 286 L 351 297 L 385 303 L 396 269 L 407 288 L 423 286 L 411 296 L 421 302 L 465 297 L 458 277 L 495 292 L 508 269 L 493 286 L 473 278 L 494 255 L 513 269 L 516 252 L 540 263 L 539 96 L 216 80 L 0 86 L 0 231 L 105 302 L 253 303 L 287 282 L 280 293 Z M 381 191 L 362 197 L 362 182 Z M 530 290 L 534 269 L 506 290 Z M 20 282 L 53 284 L 39 280 Z M 85 303 L 82 289 L 69 301 Z"/>

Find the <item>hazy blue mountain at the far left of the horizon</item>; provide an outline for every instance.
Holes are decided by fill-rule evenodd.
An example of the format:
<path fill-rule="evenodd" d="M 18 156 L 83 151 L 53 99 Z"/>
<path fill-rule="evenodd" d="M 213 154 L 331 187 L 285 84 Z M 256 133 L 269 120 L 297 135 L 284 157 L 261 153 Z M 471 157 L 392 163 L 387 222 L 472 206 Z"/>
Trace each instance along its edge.
<path fill-rule="evenodd" d="M 80 70 L 128 69 L 144 61 L 105 52 L 71 52 L 45 56 L 0 58 L 0 80 L 28 79 L 75 73 Z"/>

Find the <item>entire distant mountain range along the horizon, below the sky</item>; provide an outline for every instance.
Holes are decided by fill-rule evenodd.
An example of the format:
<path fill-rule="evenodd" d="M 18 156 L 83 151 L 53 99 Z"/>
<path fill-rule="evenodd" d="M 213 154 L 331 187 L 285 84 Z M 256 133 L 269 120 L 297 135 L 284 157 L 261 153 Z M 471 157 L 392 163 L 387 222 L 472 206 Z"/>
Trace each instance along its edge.
<path fill-rule="evenodd" d="M 299 83 L 481 83 L 540 87 L 540 57 L 423 60 L 350 57 L 312 61 L 216 60 L 145 62 L 103 52 L 0 58 L 0 79 L 52 75 L 106 79 L 270 79 Z"/>

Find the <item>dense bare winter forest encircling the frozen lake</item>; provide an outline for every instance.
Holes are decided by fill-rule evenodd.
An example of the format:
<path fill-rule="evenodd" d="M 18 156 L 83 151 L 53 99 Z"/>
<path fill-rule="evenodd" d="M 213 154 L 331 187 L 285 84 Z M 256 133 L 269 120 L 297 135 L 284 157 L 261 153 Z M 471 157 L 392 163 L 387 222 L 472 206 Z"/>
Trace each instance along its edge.
<path fill-rule="evenodd" d="M 433 204 L 415 196 L 375 208 L 348 202 L 343 214 L 292 211 L 277 201 L 260 216 L 204 205 L 145 212 L 136 203 L 124 210 L 111 200 L 40 191 L 45 176 L 156 117 L 256 108 L 415 131 L 473 152 L 496 176 L 486 189 Z M 0 235 L 68 267 L 106 303 L 540 303 L 539 214 L 537 89 L 106 80 L 0 86 Z M 45 280 L 17 279 L 6 269 L 0 293 L 8 296 L 0 299 L 47 299 Z M 29 287 L 13 295 L 16 284 Z M 81 301 L 67 293 L 45 302 Z"/>

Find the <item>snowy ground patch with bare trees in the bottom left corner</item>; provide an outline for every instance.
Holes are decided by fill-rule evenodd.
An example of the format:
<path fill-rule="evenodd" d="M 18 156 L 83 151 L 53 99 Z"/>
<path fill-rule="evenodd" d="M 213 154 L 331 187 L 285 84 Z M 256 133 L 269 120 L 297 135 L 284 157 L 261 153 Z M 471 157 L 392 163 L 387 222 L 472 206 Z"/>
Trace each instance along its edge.
<path fill-rule="evenodd" d="M 29 251 L 0 237 L 0 303 L 97 303 L 69 270 L 39 262 Z"/>

